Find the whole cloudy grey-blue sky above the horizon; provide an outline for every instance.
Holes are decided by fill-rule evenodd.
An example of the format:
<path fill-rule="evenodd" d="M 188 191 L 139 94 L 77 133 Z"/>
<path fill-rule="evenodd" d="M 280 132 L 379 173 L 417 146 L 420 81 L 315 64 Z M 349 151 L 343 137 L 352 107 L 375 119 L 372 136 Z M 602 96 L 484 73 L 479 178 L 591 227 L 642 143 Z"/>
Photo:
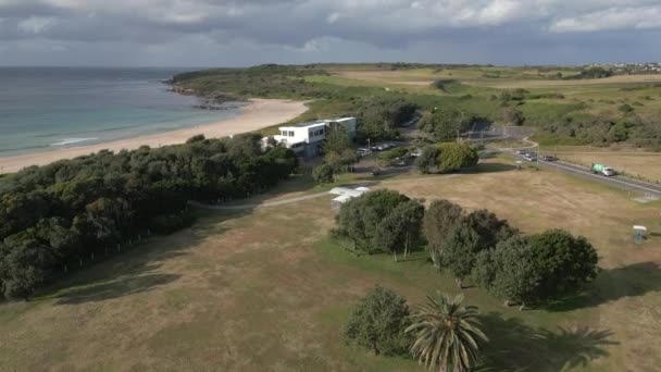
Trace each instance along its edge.
<path fill-rule="evenodd" d="M 661 0 L 0 0 L 0 65 L 661 61 Z"/>

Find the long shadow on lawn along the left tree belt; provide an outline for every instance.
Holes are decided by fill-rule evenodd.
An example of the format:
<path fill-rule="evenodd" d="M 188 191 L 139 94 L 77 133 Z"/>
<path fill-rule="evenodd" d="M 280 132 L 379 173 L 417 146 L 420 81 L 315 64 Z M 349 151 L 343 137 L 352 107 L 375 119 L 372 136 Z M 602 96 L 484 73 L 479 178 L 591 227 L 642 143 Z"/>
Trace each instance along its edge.
<path fill-rule="evenodd" d="M 207 239 L 226 233 L 222 222 L 250 214 L 252 210 L 215 213 L 201 211 L 189 228 L 154 237 L 121 255 L 73 273 L 66 280 L 41 290 L 36 299 L 54 299 L 55 305 L 77 305 L 146 293 L 173 283 L 182 274 L 164 269 L 169 260 L 190 255 Z"/>

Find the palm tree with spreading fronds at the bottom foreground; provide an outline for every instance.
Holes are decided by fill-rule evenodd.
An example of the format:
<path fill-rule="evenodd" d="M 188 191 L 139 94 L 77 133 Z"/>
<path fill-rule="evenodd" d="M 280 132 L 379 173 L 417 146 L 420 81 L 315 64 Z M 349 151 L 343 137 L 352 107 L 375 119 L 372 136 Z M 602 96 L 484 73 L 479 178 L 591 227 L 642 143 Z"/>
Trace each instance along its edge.
<path fill-rule="evenodd" d="M 414 333 L 411 354 L 431 371 L 470 371 L 477 361 L 481 342 L 488 342 L 479 330 L 476 307 L 462 307 L 463 295 L 449 298 L 439 294 L 411 315 L 413 324 L 407 333 Z"/>

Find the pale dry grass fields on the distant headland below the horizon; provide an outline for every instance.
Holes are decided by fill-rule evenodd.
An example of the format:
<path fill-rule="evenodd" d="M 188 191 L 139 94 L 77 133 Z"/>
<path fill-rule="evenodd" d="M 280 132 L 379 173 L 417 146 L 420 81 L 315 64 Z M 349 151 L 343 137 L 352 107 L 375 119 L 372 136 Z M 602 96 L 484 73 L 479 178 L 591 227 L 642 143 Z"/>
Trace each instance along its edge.
<path fill-rule="evenodd" d="M 599 79 L 564 80 L 551 78 L 562 72 L 569 76 L 576 71 L 510 67 L 464 67 L 435 71 L 413 70 L 356 70 L 352 66 L 328 69 L 330 76 L 315 77 L 319 82 L 340 85 L 390 86 L 419 94 L 442 95 L 432 83 L 436 79 L 456 79 L 463 88 L 454 95 L 470 94 L 487 104 L 490 95 L 502 89 L 523 88 L 531 94 L 561 94 L 564 99 L 538 99 L 526 102 L 520 109 L 534 123 L 556 122 L 572 114 L 575 117 L 589 114 L 595 117 L 619 119 L 621 104 L 634 104 L 636 113 L 657 117 L 661 112 L 661 75 L 619 75 Z M 494 75 L 497 71 L 498 74 Z M 314 78 L 312 78 L 314 79 Z M 362 82 L 362 83 L 361 83 Z"/>

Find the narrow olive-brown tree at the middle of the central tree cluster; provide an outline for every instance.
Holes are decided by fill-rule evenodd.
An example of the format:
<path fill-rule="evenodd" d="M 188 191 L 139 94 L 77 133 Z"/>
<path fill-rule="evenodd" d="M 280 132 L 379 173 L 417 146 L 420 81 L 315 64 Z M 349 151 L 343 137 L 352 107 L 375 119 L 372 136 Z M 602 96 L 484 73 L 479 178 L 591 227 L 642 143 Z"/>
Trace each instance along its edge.
<path fill-rule="evenodd" d="M 447 235 L 463 218 L 463 209 L 446 199 L 434 200 L 425 211 L 423 233 L 427 239 L 429 256 L 434 266 L 438 266 L 438 256 L 442 251 Z"/>

